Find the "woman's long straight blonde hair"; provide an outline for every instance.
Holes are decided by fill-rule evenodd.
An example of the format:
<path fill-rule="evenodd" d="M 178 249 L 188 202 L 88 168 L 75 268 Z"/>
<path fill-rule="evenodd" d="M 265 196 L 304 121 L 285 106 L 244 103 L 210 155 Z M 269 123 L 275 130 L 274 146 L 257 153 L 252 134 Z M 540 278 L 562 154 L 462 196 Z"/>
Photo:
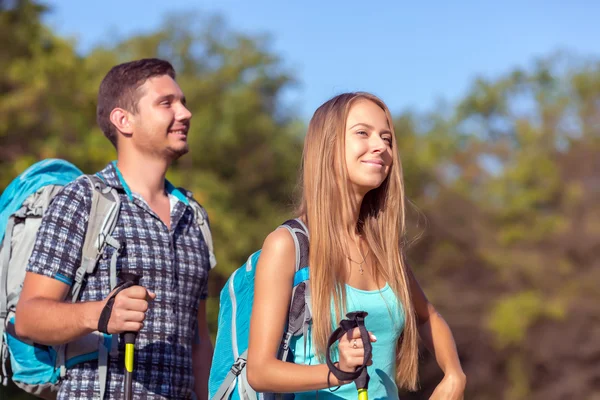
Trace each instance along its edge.
<path fill-rule="evenodd" d="M 384 182 L 369 191 L 362 202 L 358 226 L 351 218 L 350 196 L 345 163 L 345 131 L 350 107 L 359 99 L 377 104 L 385 112 L 392 131 L 393 163 Z M 405 199 L 402 166 L 396 150 L 392 117 L 387 106 L 369 93 L 338 95 L 315 111 L 304 142 L 302 157 L 302 200 L 298 214 L 310 230 L 310 288 L 312 292 L 312 339 L 319 358 L 324 358 L 333 323 L 345 312 L 345 244 L 341 232 L 357 230 L 376 258 L 376 276 L 390 285 L 402 303 L 405 326 L 398 343 L 396 381 L 402 388 L 415 390 L 418 381 L 417 324 L 404 261 Z"/>

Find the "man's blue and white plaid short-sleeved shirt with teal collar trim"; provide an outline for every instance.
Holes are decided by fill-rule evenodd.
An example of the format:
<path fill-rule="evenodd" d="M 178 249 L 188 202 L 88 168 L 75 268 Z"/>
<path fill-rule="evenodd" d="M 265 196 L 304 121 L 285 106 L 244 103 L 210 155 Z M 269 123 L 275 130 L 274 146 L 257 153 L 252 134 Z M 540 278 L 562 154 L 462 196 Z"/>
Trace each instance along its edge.
<path fill-rule="evenodd" d="M 98 174 L 118 190 L 121 211 L 113 237 L 121 242 L 117 274 L 121 268 L 141 275 L 140 285 L 156 293 L 144 327 L 136 340 L 133 376 L 135 398 L 194 398 L 192 342 L 197 328 L 199 301 L 207 297 L 210 270 L 208 247 L 194 212 L 191 193 L 167 182 L 171 198 L 171 229 L 148 204 L 131 193 L 116 163 Z M 72 284 L 80 265 L 87 227 L 91 188 L 84 178 L 65 186 L 43 217 L 28 271 Z M 113 248 L 107 246 L 81 292 L 82 301 L 99 301 L 110 292 L 109 265 Z M 118 399 L 124 391 L 124 342 L 118 337 L 118 355 L 111 355 L 106 398 Z M 97 361 L 67 370 L 58 398 L 98 398 Z"/>

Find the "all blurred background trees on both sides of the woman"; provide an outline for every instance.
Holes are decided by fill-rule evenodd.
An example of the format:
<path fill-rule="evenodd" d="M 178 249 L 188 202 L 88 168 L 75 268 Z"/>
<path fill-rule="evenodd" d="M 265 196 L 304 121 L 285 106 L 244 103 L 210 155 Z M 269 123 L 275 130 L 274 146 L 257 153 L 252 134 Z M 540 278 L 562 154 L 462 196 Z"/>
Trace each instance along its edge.
<path fill-rule="evenodd" d="M 225 280 L 292 215 L 306 129 L 281 102 L 294 76 L 268 37 L 220 17 L 173 16 L 81 55 L 44 12 L 0 1 L 0 190 L 43 158 L 104 167 L 115 153 L 95 123 L 100 80 L 120 62 L 170 60 L 194 117 L 191 151 L 169 179 L 211 218 L 214 332 Z M 453 328 L 466 398 L 600 398 L 600 62 L 548 55 L 474 80 L 449 109 L 396 115 L 395 128 L 413 203 L 409 258 Z M 427 398 L 441 378 L 425 351 L 421 371 L 422 390 L 403 398 Z M 26 398 L 14 387 L 4 396 Z"/>

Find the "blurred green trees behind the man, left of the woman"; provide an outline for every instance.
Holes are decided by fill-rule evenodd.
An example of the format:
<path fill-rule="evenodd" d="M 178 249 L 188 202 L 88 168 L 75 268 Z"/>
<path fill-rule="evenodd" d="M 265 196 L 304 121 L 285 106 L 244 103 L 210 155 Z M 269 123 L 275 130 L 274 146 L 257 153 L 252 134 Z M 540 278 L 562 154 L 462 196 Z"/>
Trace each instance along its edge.
<path fill-rule="evenodd" d="M 24 40 L 2 57 L 0 187 L 43 158 L 101 169 L 115 153 L 95 123 L 100 80 L 119 62 L 170 60 L 194 117 L 190 154 L 169 179 L 192 190 L 211 218 L 219 267 L 211 274 L 209 324 L 216 332 L 224 281 L 290 215 L 302 124 L 279 97 L 291 75 L 268 37 L 234 32 L 219 17 L 173 16 L 156 33 L 80 56 L 40 23 L 44 11 L 30 1 L 2 9 L 2 37 L 24 31 Z"/>

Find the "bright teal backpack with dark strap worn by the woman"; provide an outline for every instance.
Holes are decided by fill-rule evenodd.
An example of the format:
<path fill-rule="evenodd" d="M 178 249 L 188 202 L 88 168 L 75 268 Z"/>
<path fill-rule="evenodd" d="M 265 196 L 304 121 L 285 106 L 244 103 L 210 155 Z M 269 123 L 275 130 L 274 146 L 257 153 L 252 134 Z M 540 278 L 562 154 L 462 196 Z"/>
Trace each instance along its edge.
<path fill-rule="evenodd" d="M 312 321 L 310 285 L 308 284 L 308 230 L 299 219 L 281 225 L 287 229 L 296 250 L 296 273 L 290 301 L 287 327 L 278 358 L 293 362 L 292 338 L 304 336 Z M 217 340 L 208 380 L 211 400 L 258 400 L 293 398 L 293 394 L 257 393 L 248 383 L 246 360 L 250 315 L 254 301 L 254 276 L 260 250 L 229 277 L 221 290 Z M 305 340 L 306 344 L 306 340 Z"/>

